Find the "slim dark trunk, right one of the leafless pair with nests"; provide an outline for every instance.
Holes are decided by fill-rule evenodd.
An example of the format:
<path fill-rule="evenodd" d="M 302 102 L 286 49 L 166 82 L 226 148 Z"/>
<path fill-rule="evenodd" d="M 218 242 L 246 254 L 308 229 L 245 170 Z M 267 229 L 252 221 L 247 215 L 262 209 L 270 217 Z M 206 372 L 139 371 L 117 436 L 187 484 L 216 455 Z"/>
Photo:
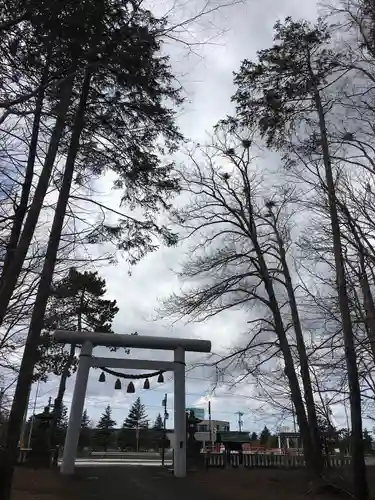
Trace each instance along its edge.
<path fill-rule="evenodd" d="M 323 457 L 322 457 L 322 448 L 321 448 L 321 440 L 320 440 L 320 433 L 319 433 L 319 427 L 318 427 L 318 419 L 316 416 L 314 393 L 312 390 L 310 369 L 309 369 L 309 362 L 308 362 L 308 357 L 307 357 L 307 353 L 306 353 L 305 340 L 303 338 L 302 326 L 301 326 L 301 321 L 300 321 L 300 317 L 299 317 L 296 296 L 294 293 L 293 282 L 292 282 L 292 278 L 290 276 L 289 266 L 288 266 L 288 263 L 286 260 L 284 242 L 283 242 L 283 240 L 280 236 L 280 233 L 278 231 L 278 228 L 276 226 L 276 221 L 274 223 L 274 231 L 275 231 L 277 243 L 279 246 L 280 261 L 281 261 L 281 266 L 282 266 L 282 270 L 283 270 L 283 274 L 284 274 L 285 286 L 286 286 L 286 290 L 287 290 L 287 294 L 288 294 L 288 301 L 289 301 L 289 307 L 290 307 L 290 311 L 291 311 L 291 315 L 292 315 L 294 332 L 296 335 L 297 350 L 298 350 L 298 356 L 299 356 L 300 367 L 301 367 L 301 378 L 302 378 L 302 383 L 303 383 L 303 388 L 304 388 L 304 393 L 305 393 L 305 402 L 306 402 L 307 416 L 308 416 L 308 422 L 309 422 L 309 427 L 310 427 L 311 441 L 312 441 L 312 446 L 314 449 L 315 469 L 317 471 L 322 472 L 323 467 L 324 467 L 324 463 L 323 463 Z"/>

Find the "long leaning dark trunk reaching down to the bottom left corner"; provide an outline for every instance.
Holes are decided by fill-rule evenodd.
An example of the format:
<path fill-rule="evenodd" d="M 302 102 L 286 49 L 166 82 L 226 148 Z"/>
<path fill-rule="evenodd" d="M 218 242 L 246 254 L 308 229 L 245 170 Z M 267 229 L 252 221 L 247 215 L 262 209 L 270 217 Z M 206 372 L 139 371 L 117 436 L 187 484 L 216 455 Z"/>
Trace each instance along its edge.
<path fill-rule="evenodd" d="M 90 88 L 90 73 L 87 70 L 82 84 L 82 91 L 76 112 L 69 151 L 65 163 L 64 177 L 53 218 L 48 240 L 46 256 L 40 277 L 38 292 L 31 317 L 30 328 L 19 370 L 13 404 L 9 415 L 8 432 L 4 456 L 0 464 L 0 500 L 10 500 L 11 482 L 14 466 L 17 461 L 17 443 L 25 409 L 27 393 L 31 384 L 34 365 L 37 359 L 38 342 L 43 328 L 43 319 L 59 248 L 61 231 L 64 224 L 66 206 L 69 199 L 73 179 L 74 163 L 78 152 L 81 131 L 84 125 L 84 114 Z"/>

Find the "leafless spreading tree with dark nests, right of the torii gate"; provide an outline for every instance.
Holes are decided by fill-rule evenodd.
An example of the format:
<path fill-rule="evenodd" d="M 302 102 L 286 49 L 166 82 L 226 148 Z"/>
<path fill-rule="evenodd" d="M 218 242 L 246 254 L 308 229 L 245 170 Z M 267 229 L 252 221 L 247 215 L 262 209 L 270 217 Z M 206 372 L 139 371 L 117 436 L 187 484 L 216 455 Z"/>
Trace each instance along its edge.
<path fill-rule="evenodd" d="M 278 199 L 270 195 L 252 139 L 245 130 L 242 134 L 220 127 L 211 146 L 190 154 L 191 164 L 182 177 L 191 203 L 176 213 L 176 219 L 188 231 L 187 237 L 196 241 L 180 277 L 198 283 L 170 297 L 166 312 L 204 319 L 227 309 L 248 311 L 251 326 L 244 345 L 222 361 L 236 358 L 245 374 L 256 374 L 281 356 L 306 459 L 320 473 L 315 403 L 287 262 L 288 228 L 283 217 L 291 193 L 286 189 Z M 294 338 L 305 397 L 291 347 Z"/>

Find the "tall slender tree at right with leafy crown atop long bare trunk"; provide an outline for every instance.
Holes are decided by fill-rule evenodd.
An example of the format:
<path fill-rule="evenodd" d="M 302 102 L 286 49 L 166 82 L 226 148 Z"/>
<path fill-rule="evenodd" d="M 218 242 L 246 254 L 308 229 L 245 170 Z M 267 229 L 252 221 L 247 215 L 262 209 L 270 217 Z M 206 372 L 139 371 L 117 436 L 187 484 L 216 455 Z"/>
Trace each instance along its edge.
<path fill-rule="evenodd" d="M 367 499 L 361 392 L 327 118 L 334 102 L 334 82 L 343 77 L 345 70 L 341 66 L 341 53 L 328 46 L 329 38 L 329 30 L 323 23 L 312 26 L 291 18 L 278 22 L 274 45 L 260 51 L 255 63 L 242 63 L 235 78 L 234 100 L 242 123 L 256 122 L 270 147 L 286 154 L 297 150 L 305 158 L 310 154 L 310 158 L 314 156 L 314 161 L 322 165 L 350 387 L 354 490 L 358 499 Z M 302 126 L 306 127 L 306 133 L 300 135 Z"/>

